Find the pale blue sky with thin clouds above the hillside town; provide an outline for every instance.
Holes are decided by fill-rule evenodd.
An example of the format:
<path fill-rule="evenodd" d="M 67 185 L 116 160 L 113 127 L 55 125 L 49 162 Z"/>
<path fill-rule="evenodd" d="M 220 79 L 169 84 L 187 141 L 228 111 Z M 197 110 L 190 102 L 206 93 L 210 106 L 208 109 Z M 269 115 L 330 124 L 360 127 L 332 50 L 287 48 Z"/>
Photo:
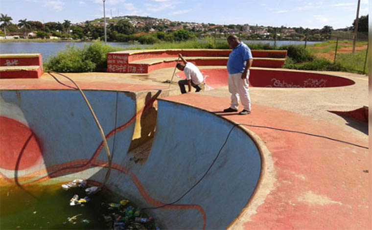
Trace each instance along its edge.
<path fill-rule="evenodd" d="M 105 0 L 106 16 L 172 21 L 334 29 L 351 26 L 358 0 Z M 361 0 L 359 17 L 368 14 Z M 72 23 L 103 17 L 102 0 L 0 0 L 0 13 L 19 20 Z"/>

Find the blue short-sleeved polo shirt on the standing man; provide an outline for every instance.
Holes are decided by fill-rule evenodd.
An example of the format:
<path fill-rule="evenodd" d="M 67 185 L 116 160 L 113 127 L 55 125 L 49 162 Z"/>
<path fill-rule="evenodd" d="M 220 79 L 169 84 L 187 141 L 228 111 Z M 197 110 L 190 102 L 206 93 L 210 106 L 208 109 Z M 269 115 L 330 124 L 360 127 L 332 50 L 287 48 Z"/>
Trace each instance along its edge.
<path fill-rule="evenodd" d="M 243 42 L 240 42 L 239 45 L 232 49 L 229 55 L 227 70 L 230 74 L 242 73 L 249 59 L 253 59 L 251 49 Z"/>

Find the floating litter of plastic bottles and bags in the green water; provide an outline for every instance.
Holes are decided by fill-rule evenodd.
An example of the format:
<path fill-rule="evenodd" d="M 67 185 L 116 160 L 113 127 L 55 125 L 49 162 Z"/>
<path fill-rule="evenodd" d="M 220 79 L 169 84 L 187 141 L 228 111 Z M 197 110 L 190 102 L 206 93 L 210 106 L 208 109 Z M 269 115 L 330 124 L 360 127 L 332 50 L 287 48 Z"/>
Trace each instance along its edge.
<path fill-rule="evenodd" d="M 93 195 L 95 192 L 99 191 L 99 187 L 92 186 L 87 188 L 87 181 L 76 179 L 67 184 L 62 184 L 64 190 L 69 190 L 72 188 L 80 187 L 85 188 L 87 195 Z M 70 199 L 70 206 L 85 206 L 87 203 L 91 202 L 89 196 L 79 199 L 79 195 L 75 194 Z M 155 224 L 152 217 L 147 217 L 144 213 L 141 212 L 139 208 L 131 205 L 129 200 L 120 200 L 118 203 L 101 203 L 100 210 L 102 212 L 101 218 L 102 221 L 106 223 L 107 229 L 110 230 L 147 230 L 147 229 L 156 229 L 160 230 L 160 227 Z M 63 224 L 71 223 L 76 224 L 77 218 L 81 214 L 72 216 L 68 218 L 68 222 Z M 84 225 L 89 225 L 90 221 L 83 219 L 80 221 Z"/>

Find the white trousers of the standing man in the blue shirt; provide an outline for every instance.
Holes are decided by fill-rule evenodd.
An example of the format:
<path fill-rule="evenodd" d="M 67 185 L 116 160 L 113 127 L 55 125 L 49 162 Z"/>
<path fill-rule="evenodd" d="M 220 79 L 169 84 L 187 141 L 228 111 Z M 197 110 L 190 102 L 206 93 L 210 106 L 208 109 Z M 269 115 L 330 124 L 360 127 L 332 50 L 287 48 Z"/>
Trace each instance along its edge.
<path fill-rule="evenodd" d="M 242 73 L 229 73 L 229 92 L 231 93 L 230 108 L 238 109 L 239 97 L 245 110 L 251 111 L 251 97 L 249 96 L 249 72 L 246 79 L 241 79 Z"/>

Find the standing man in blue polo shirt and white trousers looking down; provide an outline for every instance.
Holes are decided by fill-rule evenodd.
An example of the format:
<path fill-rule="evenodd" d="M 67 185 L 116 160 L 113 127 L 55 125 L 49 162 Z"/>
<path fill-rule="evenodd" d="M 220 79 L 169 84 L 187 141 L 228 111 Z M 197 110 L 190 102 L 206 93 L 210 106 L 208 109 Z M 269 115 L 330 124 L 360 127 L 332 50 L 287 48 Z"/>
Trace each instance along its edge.
<path fill-rule="evenodd" d="M 239 106 L 239 97 L 244 107 L 239 115 L 248 115 L 251 113 L 251 98 L 249 96 L 249 69 L 252 67 L 253 57 L 251 49 L 235 35 L 227 38 L 232 51 L 227 62 L 229 72 L 229 92 L 231 93 L 231 105 L 224 112 L 237 112 Z"/>

